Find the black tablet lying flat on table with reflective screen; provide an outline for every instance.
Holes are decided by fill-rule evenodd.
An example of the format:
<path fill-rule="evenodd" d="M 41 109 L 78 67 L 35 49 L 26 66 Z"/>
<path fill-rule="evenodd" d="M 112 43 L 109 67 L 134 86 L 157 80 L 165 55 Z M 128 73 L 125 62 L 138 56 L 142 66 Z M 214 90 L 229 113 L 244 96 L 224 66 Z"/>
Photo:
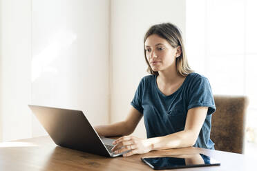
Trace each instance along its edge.
<path fill-rule="evenodd" d="M 204 154 L 182 154 L 166 157 L 142 157 L 141 160 L 155 170 L 220 165 L 220 162 Z"/>

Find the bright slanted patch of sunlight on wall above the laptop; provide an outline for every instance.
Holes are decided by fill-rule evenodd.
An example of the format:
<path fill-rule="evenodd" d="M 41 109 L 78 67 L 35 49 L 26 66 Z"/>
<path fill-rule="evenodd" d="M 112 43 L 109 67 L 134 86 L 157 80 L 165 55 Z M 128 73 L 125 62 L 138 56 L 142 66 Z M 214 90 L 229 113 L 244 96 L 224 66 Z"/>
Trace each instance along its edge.
<path fill-rule="evenodd" d="M 43 72 L 57 74 L 58 70 L 50 66 L 64 48 L 72 45 L 77 35 L 68 30 L 60 30 L 49 40 L 49 45 L 42 52 L 32 58 L 32 83 L 41 76 Z"/>

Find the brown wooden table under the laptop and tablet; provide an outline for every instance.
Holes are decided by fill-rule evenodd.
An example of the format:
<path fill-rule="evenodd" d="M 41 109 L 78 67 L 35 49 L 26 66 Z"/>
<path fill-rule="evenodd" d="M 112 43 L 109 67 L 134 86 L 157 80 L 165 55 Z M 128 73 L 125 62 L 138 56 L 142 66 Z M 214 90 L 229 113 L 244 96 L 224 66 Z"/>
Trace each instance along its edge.
<path fill-rule="evenodd" d="M 106 158 L 95 154 L 61 148 L 50 137 L 23 139 L 0 143 L 0 170 L 152 170 L 140 160 L 141 157 L 173 154 L 209 155 L 220 161 L 220 166 L 185 168 L 177 170 L 255 170 L 257 160 L 243 154 L 206 150 L 202 148 L 180 148 L 159 150 L 131 157 Z M 255 162 L 255 163 L 254 163 Z"/>

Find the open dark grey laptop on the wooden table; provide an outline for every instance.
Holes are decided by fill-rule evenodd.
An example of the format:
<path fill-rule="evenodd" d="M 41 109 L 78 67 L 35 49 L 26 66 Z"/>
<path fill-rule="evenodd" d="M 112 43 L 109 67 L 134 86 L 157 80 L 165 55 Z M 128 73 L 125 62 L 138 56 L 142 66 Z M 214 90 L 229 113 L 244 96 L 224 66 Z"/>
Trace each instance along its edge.
<path fill-rule="evenodd" d="M 111 151 L 114 139 L 99 137 L 80 110 L 28 105 L 53 141 L 62 147 L 81 150 L 104 157 L 117 157 Z"/>

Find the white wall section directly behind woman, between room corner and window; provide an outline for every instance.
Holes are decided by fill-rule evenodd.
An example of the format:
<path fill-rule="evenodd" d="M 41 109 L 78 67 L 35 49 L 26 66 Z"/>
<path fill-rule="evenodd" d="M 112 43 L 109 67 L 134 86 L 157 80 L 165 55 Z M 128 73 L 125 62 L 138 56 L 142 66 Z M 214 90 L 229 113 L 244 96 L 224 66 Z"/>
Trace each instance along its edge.
<path fill-rule="evenodd" d="M 185 30 L 184 0 L 111 1 L 111 123 L 126 118 L 135 90 L 146 72 L 144 34 L 155 23 Z M 143 119 L 133 133 L 146 137 Z"/>

